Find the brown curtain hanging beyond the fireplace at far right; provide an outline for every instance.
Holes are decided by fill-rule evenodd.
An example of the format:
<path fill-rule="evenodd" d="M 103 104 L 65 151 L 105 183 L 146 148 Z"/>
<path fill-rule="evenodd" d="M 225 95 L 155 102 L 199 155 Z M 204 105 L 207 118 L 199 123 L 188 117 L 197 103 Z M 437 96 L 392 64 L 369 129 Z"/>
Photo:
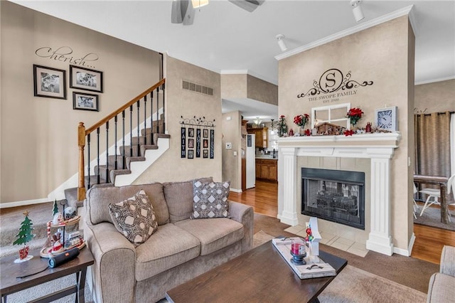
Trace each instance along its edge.
<path fill-rule="evenodd" d="M 450 118 L 450 112 L 414 115 L 415 174 L 451 176 Z"/>

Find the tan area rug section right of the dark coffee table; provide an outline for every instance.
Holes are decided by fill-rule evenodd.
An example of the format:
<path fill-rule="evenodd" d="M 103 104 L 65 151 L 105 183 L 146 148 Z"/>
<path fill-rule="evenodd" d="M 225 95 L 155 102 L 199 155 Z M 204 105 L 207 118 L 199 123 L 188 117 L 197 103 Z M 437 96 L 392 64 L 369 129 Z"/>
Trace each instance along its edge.
<path fill-rule="evenodd" d="M 373 275 L 357 267 L 346 267 L 318 297 L 320 302 L 427 302 L 427 294 Z"/>

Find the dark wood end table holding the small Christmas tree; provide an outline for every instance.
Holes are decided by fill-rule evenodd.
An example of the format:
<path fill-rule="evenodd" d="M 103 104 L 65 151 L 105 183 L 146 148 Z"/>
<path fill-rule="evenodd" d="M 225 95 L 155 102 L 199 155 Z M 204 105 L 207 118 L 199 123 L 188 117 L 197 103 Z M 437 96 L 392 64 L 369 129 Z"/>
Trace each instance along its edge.
<path fill-rule="evenodd" d="M 33 258 L 22 263 L 14 263 L 14 260 L 18 257 L 16 255 L 1 258 L 0 293 L 3 303 L 6 303 L 6 296 L 8 294 L 13 294 L 14 292 L 41 285 L 44 282 L 74 273 L 76 274 L 75 285 L 38 298 L 33 302 L 51 302 L 74 293 L 76 294 L 76 302 L 85 302 L 85 275 L 87 273 L 87 267 L 94 262 L 92 252 L 88 248 L 80 250 L 79 255 L 75 259 L 58 267 L 48 267 L 47 269 L 45 268 L 48 266 L 48 259 L 40 257 L 39 250 L 33 250 L 29 254 L 33 255 Z M 43 272 L 36 273 L 35 275 L 18 278 L 26 275 L 28 272 L 37 272 L 43 269 L 45 269 Z"/>

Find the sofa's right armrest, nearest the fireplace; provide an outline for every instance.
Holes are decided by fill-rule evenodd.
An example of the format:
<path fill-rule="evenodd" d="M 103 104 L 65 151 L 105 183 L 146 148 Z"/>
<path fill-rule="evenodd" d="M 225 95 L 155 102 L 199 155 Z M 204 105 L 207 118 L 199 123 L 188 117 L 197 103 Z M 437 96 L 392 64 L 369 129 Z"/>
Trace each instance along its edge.
<path fill-rule="evenodd" d="M 242 253 L 245 253 L 253 247 L 255 212 L 251 206 L 229 201 L 229 213 L 232 220 L 236 220 L 243 225 L 245 234 L 242 239 Z"/>

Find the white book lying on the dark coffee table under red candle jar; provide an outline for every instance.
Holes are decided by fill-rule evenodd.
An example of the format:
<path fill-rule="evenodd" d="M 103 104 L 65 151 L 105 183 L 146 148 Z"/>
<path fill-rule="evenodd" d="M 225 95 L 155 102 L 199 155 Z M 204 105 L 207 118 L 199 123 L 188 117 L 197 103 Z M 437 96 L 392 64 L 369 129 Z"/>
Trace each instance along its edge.
<path fill-rule="evenodd" d="M 296 265 L 292 262 L 293 256 L 291 255 L 291 242 L 292 240 L 301 240 L 301 238 L 274 238 L 272 244 L 277 248 L 280 255 L 287 262 L 287 264 L 294 270 L 300 279 L 310 279 L 316 277 L 331 277 L 336 276 L 336 270 L 328 263 L 318 256 L 309 256 L 309 250 L 306 248 L 306 257 L 304 260 L 306 264 Z"/>

